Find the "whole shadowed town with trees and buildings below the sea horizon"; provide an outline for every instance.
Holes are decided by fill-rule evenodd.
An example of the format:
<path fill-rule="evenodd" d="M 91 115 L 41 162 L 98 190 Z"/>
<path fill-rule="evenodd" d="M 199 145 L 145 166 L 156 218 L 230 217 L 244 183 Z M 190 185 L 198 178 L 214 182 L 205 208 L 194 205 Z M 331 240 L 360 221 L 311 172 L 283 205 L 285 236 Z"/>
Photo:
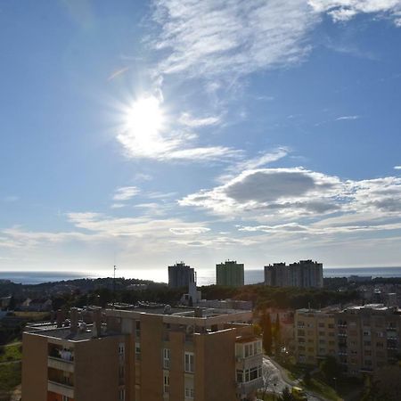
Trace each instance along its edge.
<path fill-rule="evenodd" d="M 180 262 L 168 284 L 2 280 L 0 296 L 2 400 L 386 400 L 401 361 L 401 280 L 313 260 L 253 285 L 226 260 L 216 285 Z"/>

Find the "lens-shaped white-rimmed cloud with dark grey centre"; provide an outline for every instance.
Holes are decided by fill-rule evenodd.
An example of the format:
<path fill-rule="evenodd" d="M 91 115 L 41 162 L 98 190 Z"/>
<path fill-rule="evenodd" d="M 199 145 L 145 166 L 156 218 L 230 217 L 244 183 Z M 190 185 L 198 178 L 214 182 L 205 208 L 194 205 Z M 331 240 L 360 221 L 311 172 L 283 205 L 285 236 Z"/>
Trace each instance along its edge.
<path fill-rule="evenodd" d="M 333 198 L 342 185 L 338 177 L 303 168 L 250 169 L 212 190 L 190 194 L 180 204 L 228 215 L 324 214 L 340 208 Z"/>

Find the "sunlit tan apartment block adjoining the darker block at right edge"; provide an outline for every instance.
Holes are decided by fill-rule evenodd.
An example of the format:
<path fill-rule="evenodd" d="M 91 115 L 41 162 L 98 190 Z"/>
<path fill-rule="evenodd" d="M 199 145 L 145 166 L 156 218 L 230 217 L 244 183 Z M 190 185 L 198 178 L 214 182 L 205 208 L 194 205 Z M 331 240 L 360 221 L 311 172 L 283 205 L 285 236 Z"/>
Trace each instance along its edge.
<path fill-rule="evenodd" d="M 319 364 L 337 355 L 336 309 L 298 309 L 294 315 L 295 354 L 299 364 Z"/>

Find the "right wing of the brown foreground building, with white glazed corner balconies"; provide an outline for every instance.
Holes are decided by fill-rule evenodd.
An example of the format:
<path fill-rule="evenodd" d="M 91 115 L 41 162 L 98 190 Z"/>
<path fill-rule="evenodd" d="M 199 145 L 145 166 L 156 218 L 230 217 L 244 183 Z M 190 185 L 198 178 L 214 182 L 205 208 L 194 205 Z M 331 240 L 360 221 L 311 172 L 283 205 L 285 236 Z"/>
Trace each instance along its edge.
<path fill-rule="evenodd" d="M 135 344 L 129 400 L 236 401 L 262 386 L 250 311 L 142 305 L 107 318 Z"/>

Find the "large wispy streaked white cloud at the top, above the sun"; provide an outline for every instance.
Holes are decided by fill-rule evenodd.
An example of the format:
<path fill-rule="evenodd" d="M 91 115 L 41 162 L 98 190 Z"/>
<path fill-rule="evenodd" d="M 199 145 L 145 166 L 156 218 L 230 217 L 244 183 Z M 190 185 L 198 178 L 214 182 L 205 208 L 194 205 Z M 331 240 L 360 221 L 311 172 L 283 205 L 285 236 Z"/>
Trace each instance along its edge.
<path fill-rule="evenodd" d="M 169 49 L 161 73 L 213 77 L 287 65 L 308 53 L 307 32 L 319 20 L 305 0 L 156 0 L 154 45 Z"/>

